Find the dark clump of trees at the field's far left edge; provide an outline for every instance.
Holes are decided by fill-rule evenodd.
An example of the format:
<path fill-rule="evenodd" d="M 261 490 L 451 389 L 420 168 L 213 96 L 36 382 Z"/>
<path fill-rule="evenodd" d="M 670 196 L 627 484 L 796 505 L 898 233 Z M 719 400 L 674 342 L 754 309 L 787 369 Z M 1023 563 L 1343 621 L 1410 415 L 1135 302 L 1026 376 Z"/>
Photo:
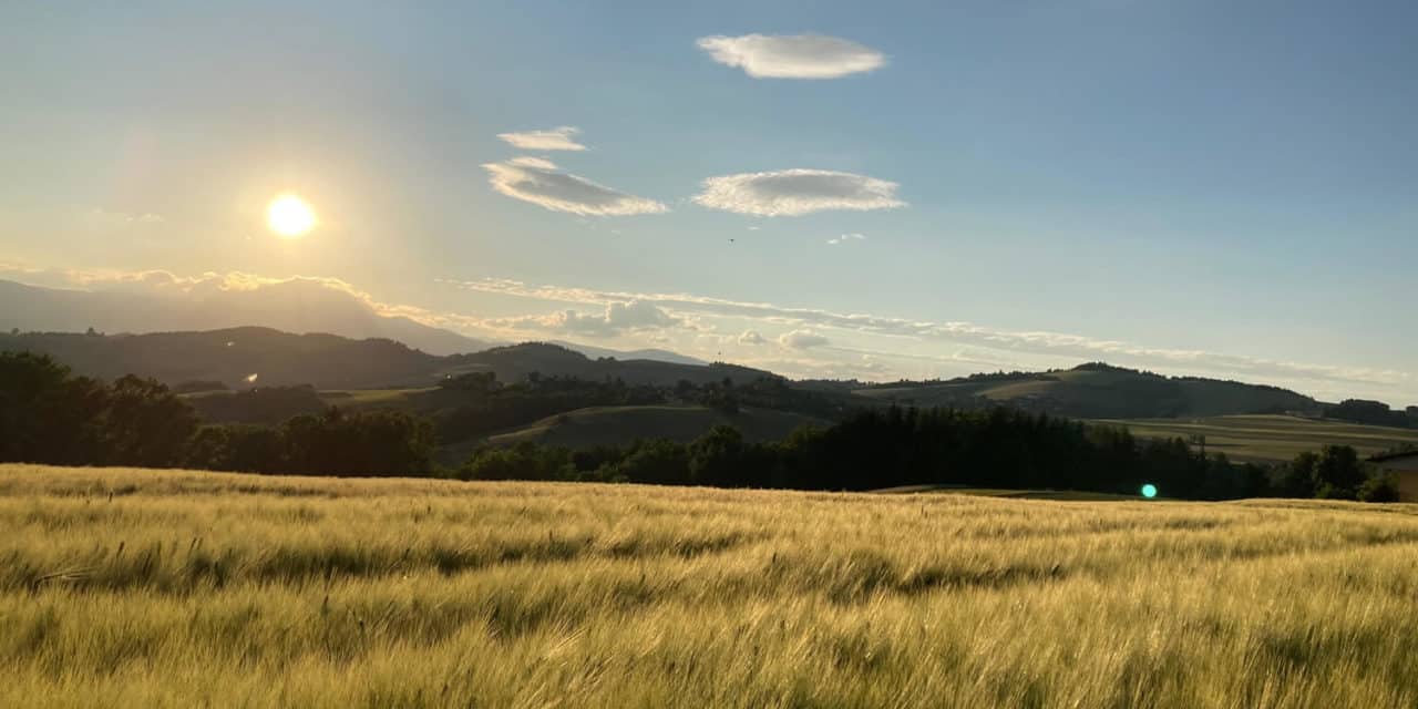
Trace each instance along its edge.
<path fill-rule="evenodd" d="M 404 411 L 328 408 L 279 425 L 203 425 L 164 384 L 75 377 L 0 353 L 0 461 L 309 475 L 432 475 L 432 425 Z"/>

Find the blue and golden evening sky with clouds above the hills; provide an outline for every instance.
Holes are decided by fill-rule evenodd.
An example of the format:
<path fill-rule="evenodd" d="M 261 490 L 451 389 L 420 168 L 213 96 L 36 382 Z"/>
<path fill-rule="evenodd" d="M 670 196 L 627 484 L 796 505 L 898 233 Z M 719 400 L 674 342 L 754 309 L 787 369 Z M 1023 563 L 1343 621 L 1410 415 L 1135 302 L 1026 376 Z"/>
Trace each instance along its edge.
<path fill-rule="evenodd" d="M 0 278 L 1418 404 L 1414 3 L 203 6 L 0 7 Z"/>

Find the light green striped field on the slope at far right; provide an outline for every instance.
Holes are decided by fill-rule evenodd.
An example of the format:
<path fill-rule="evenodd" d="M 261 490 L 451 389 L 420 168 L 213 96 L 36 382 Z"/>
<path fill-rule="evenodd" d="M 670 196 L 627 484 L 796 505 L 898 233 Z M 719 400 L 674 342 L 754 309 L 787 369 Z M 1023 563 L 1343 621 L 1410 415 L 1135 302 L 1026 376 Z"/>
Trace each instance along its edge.
<path fill-rule="evenodd" d="M 1100 423 L 1126 425 L 1140 438 L 1207 437 L 1207 452 L 1236 461 L 1290 461 L 1324 445 L 1353 445 L 1360 455 L 1418 445 L 1418 430 L 1350 424 L 1293 415 L 1217 415 L 1208 418 L 1133 418 Z"/>

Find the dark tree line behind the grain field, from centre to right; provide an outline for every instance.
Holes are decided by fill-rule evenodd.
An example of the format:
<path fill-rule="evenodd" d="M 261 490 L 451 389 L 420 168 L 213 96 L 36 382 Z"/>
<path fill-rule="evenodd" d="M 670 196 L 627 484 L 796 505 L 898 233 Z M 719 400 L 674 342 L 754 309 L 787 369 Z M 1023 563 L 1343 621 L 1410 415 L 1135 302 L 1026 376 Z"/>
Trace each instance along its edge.
<path fill-rule="evenodd" d="M 484 447 L 461 479 L 598 481 L 719 488 L 872 491 L 909 485 L 1071 489 L 1163 496 L 1330 498 L 1391 502 L 1397 481 L 1332 445 L 1292 464 L 1232 464 L 1181 438 L 1136 440 L 1126 428 L 1048 414 L 888 408 L 859 411 L 828 428 L 750 442 L 719 425 L 688 444 L 666 440 L 567 450 L 523 441 Z"/>

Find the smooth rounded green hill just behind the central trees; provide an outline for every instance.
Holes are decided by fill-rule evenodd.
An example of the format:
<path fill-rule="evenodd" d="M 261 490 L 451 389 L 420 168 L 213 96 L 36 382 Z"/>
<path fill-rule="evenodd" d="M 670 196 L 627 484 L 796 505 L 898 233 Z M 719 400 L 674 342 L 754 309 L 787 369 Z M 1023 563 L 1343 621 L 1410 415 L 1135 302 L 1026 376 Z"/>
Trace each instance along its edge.
<path fill-rule="evenodd" d="M 767 408 L 743 408 L 736 414 L 726 414 L 699 406 L 591 407 L 493 435 L 489 442 L 505 445 L 535 441 L 567 448 L 624 445 L 635 438 L 688 442 L 715 425 L 732 425 L 749 441 L 776 441 L 804 425 L 828 424 L 820 418 Z"/>

